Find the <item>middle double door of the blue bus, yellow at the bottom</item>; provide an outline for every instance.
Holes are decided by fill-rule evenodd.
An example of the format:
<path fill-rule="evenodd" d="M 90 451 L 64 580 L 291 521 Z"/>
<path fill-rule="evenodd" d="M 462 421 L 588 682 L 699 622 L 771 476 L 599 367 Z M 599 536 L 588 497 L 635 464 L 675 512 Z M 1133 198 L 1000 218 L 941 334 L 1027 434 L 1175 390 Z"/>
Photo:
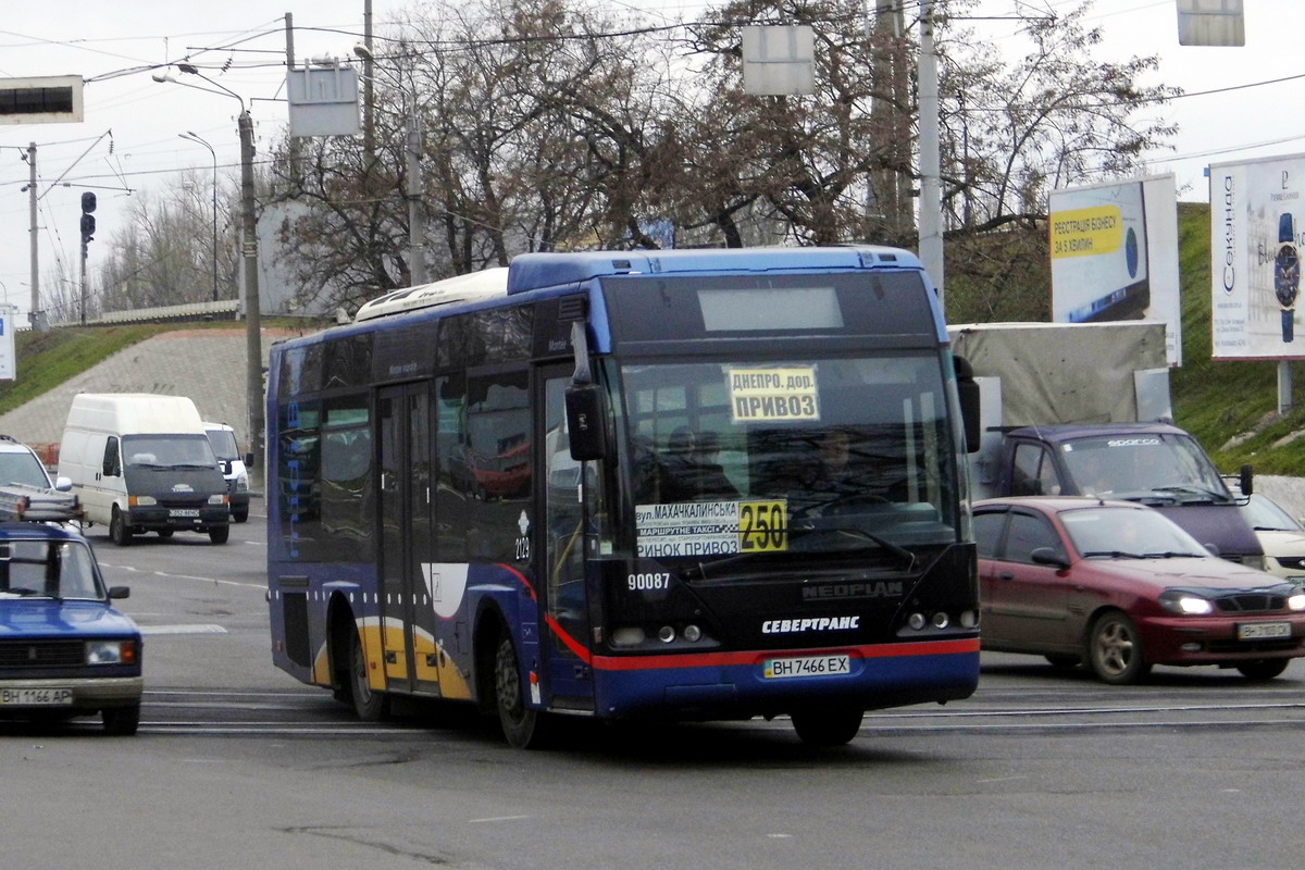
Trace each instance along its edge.
<path fill-rule="evenodd" d="M 431 552 L 431 415 L 425 383 L 384 387 L 380 433 L 380 577 L 386 686 L 438 691 L 433 610 L 422 575 Z M 424 604 L 424 607 L 423 607 Z"/>

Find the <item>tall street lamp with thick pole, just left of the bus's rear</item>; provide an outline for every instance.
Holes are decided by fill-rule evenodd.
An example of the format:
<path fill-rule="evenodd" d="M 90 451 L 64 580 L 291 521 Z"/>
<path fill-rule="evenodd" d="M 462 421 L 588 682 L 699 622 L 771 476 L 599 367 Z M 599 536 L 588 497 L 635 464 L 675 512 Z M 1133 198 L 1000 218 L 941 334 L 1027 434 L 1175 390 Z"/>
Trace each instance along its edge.
<path fill-rule="evenodd" d="M 258 232 L 253 201 L 253 119 L 245 108 L 244 98 L 224 85 L 219 85 L 191 64 L 177 64 L 183 73 L 202 78 L 218 90 L 192 85 L 170 73 L 154 73 L 157 82 L 172 82 L 207 94 L 227 95 L 240 102 L 240 117 L 236 129 L 240 133 L 240 203 L 241 203 L 241 245 L 244 257 L 245 284 L 245 407 L 249 420 L 249 450 L 262 462 L 264 411 L 262 411 L 262 317 L 258 307 Z"/>

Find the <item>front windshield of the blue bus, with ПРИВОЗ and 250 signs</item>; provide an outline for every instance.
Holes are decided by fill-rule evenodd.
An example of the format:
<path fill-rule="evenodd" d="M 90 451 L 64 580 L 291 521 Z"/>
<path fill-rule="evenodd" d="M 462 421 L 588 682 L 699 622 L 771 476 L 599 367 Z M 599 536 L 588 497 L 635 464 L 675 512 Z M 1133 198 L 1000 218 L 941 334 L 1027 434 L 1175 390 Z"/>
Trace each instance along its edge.
<path fill-rule="evenodd" d="M 637 552 L 912 550 L 958 541 L 936 353 L 621 369 Z"/>

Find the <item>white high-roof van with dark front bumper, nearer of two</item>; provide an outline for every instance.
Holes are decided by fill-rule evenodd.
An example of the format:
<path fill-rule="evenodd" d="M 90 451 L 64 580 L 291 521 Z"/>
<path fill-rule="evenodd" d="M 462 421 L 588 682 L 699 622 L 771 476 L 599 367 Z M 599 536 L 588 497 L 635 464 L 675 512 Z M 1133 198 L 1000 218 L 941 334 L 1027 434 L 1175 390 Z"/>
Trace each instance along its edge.
<path fill-rule="evenodd" d="M 108 526 L 119 547 L 132 536 L 231 532 L 227 484 L 194 403 L 181 395 L 81 393 L 59 446 L 86 519 Z"/>

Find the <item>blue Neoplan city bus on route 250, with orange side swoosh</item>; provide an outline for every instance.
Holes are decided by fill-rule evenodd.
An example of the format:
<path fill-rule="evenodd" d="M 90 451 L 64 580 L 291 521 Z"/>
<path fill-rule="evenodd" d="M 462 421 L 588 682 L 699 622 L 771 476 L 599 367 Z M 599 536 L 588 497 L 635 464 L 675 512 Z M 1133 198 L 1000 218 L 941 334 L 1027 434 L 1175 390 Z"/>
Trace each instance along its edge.
<path fill-rule="evenodd" d="M 523 254 L 277 343 L 275 664 L 365 720 L 465 699 L 788 716 L 967 698 L 979 593 L 957 373 L 889 248 Z"/>

